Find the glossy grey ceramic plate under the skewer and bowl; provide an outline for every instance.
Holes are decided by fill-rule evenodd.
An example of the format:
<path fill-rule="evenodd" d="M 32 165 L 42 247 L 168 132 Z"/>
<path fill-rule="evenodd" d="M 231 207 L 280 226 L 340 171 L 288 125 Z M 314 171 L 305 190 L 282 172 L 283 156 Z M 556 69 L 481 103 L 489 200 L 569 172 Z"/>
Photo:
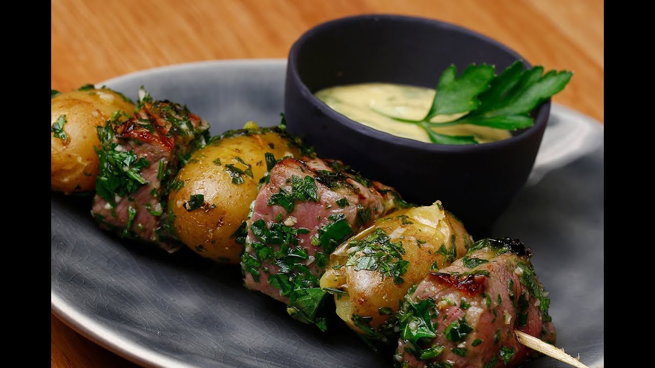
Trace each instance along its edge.
<path fill-rule="evenodd" d="M 284 60 L 231 60 L 142 71 L 104 84 L 186 103 L 212 134 L 246 120 L 278 124 Z M 529 184 L 494 227 L 521 238 L 550 291 L 557 343 L 604 361 L 603 128 L 553 105 Z M 120 240 L 98 229 L 90 200 L 52 194 L 52 311 L 98 344 L 155 367 L 391 367 L 337 320 L 327 333 L 246 290 L 238 267 Z M 525 367 L 564 367 L 550 358 Z"/>

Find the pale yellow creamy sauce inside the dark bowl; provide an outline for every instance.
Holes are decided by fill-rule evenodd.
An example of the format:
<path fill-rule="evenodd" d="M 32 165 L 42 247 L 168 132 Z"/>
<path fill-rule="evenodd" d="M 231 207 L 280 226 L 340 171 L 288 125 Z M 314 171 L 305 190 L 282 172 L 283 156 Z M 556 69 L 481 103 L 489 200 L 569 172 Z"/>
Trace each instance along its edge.
<path fill-rule="evenodd" d="M 329 107 L 376 130 L 394 136 L 430 143 L 428 134 L 411 122 L 400 122 L 384 115 L 408 120 L 425 117 L 434 100 L 434 89 L 393 83 L 361 83 L 333 86 L 316 92 L 316 97 Z M 379 111 L 376 112 L 376 111 Z M 438 115 L 432 122 L 449 122 L 466 115 Z M 444 126 L 434 131 L 449 136 L 474 136 L 479 143 L 500 141 L 512 136 L 502 129 L 471 124 Z"/>

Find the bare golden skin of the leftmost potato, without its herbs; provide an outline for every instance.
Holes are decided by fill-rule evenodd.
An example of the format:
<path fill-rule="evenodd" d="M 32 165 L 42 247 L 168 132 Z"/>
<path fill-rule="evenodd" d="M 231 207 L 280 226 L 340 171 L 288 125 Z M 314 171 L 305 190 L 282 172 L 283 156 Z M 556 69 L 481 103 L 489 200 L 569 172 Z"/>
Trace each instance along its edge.
<path fill-rule="evenodd" d="M 134 104 L 108 89 L 75 90 L 54 96 L 50 103 L 50 126 L 65 115 L 67 140 L 50 131 L 50 187 L 66 194 L 94 191 L 98 175 L 100 146 L 96 126 L 102 125 L 117 110 L 130 115 Z"/>

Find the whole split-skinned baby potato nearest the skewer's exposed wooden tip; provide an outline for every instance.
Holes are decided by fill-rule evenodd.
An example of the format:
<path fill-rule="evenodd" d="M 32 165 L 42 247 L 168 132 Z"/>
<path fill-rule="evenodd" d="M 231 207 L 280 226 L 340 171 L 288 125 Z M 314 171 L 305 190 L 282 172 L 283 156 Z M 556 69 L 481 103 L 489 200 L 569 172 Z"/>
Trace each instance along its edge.
<path fill-rule="evenodd" d="M 337 248 L 320 286 L 334 294 L 337 314 L 351 329 L 384 341 L 396 327 L 385 322 L 407 289 L 462 257 L 472 243 L 439 201 L 399 210 Z"/>

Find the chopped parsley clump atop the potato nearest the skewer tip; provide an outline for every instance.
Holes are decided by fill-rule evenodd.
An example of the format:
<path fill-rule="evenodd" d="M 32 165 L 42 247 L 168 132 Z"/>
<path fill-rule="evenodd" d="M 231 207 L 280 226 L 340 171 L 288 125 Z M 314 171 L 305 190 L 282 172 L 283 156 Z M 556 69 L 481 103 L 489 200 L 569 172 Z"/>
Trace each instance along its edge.
<path fill-rule="evenodd" d="M 394 279 L 394 284 L 402 284 L 401 277 L 407 272 L 409 261 L 403 260 L 405 248 L 402 242 L 392 242 L 383 229 L 375 229 L 364 240 L 350 240 L 349 248 L 356 247 L 348 255 L 346 266 L 355 270 L 377 270 L 380 274 Z"/>

